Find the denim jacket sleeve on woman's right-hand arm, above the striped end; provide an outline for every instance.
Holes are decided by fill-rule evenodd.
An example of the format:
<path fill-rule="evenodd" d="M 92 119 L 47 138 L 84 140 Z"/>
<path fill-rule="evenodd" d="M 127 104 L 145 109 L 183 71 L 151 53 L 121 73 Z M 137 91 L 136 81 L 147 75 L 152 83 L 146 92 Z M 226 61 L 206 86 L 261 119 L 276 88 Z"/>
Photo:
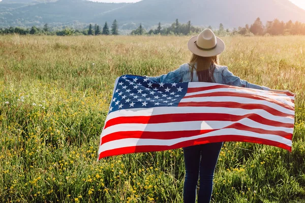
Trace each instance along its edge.
<path fill-rule="evenodd" d="M 238 87 L 247 87 L 247 88 L 252 88 L 252 89 L 269 90 L 268 87 L 259 86 L 256 84 L 249 83 L 246 80 L 241 80 L 239 77 L 234 76 L 233 73 L 231 73 L 227 67 L 225 67 L 225 69 L 223 69 L 222 77 L 223 77 L 224 83 L 227 85 L 233 85 L 233 86 L 238 86 Z"/>

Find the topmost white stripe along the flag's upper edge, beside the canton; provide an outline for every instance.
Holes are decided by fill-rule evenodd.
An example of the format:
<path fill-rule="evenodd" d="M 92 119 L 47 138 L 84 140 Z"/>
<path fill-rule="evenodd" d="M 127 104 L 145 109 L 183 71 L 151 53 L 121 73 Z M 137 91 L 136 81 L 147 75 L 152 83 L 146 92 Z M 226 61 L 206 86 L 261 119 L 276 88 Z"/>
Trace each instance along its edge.
<path fill-rule="evenodd" d="M 205 82 L 189 82 L 188 84 L 188 88 L 196 88 L 196 87 L 211 87 L 211 86 L 216 86 L 216 85 L 224 85 L 224 84 L 218 84 L 218 83 L 205 83 Z M 272 90 L 261 90 L 261 89 L 251 89 L 251 88 L 246 88 L 246 87 L 237 87 L 237 86 L 233 86 L 233 87 L 236 87 L 236 88 L 229 88 L 230 85 L 225 85 L 227 86 L 228 88 L 218 88 L 218 89 L 230 89 L 230 90 L 243 90 L 245 89 L 245 91 L 248 93 L 249 92 L 257 92 L 257 93 L 263 93 L 263 94 L 268 94 L 268 95 L 272 95 L 272 96 L 275 96 L 275 95 L 278 95 L 278 96 L 283 96 L 283 97 L 288 97 L 290 99 L 293 99 L 294 100 L 294 96 L 289 96 L 287 95 L 286 93 L 281 93 L 281 92 L 277 92 L 277 91 L 272 91 Z"/>

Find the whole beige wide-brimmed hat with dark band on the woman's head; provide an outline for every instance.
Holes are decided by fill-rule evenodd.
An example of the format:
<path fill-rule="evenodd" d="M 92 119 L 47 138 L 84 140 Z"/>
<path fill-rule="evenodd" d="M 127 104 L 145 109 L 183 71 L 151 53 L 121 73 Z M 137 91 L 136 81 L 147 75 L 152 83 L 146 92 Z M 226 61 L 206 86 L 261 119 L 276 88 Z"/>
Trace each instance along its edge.
<path fill-rule="evenodd" d="M 198 56 L 216 56 L 225 50 L 225 43 L 210 29 L 204 29 L 188 42 L 189 50 Z"/>

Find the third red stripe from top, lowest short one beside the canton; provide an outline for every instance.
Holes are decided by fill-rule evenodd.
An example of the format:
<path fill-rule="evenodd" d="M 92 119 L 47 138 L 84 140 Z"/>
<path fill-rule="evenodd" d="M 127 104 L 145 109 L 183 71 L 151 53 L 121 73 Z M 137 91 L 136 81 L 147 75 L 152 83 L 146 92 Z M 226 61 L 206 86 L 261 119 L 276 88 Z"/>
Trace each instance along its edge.
<path fill-rule="evenodd" d="M 236 109 L 261 109 L 265 110 L 266 112 L 275 115 L 275 116 L 282 116 L 287 117 L 287 115 L 291 116 L 290 114 L 286 114 L 283 112 L 280 112 L 276 109 L 273 109 L 271 107 L 268 107 L 266 105 L 260 105 L 260 104 L 240 104 L 233 101 L 200 101 L 200 102 L 180 102 L 178 104 L 178 107 L 226 107 L 226 108 L 236 108 Z"/>

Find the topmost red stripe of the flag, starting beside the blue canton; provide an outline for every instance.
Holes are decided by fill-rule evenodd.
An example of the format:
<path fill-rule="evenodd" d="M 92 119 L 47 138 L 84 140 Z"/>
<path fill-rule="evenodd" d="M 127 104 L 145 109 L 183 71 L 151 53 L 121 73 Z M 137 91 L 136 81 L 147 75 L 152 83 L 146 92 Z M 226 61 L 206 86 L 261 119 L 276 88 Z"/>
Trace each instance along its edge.
<path fill-rule="evenodd" d="M 214 86 L 209 86 L 209 87 L 189 87 L 187 93 L 206 91 L 206 90 L 211 90 L 211 89 L 219 89 L 219 88 L 245 90 L 246 87 L 237 87 L 237 86 L 232 86 L 232 85 L 214 85 Z M 249 91 L 249 92 L 259 92 L 255 89 L 251 89 L 251 88 L 247 88 L 247 91 Z M 294 94 L 290 94 L 288 92 L 281 92 L 281 91 L 264 91 L 263 93 L 271 94 L 271 95 L 275 95 L 275 96 L 278 96 L 279 94 L 285 94 L 287 96 L 294 96 Z M 291 99 L 291 98 L 287 98 L 287 99 L 294 100 L 294 99 Z"/>

